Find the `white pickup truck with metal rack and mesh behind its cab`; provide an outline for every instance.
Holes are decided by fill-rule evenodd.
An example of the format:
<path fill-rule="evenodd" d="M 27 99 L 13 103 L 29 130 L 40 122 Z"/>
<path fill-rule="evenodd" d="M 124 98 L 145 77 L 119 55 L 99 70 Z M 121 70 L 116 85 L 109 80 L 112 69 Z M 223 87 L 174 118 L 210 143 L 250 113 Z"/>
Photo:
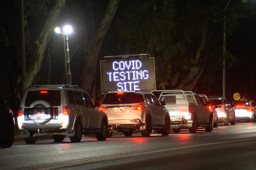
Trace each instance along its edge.
<path fill-rule="evenodd" d="M 206 132 L 213 129 L 213 114 L 202 98 L 192 91 L 153 90 L 158 100 L 165 101 L 170 114 L 170 127 L 178 133 L 181 129 L 189 129 L 195 133 L 197 127 L 205 127 Z"/>

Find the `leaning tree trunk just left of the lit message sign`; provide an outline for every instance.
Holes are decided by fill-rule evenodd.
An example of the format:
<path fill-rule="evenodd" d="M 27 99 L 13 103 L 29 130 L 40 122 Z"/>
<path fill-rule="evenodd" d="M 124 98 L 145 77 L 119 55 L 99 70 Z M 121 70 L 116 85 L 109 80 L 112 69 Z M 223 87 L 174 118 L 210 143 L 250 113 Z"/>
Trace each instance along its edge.
<path fill-rule="evenodd" d="M 80 62 L 80 87 L 86 90 L 93 100 L 95 100 L 95 68 L 99 49 L 108 27 L 116 13 L 119 0 L 110 0 L 104 17 L 102 18 L 99 28 L 94 36 L 85 44 L 83 56 Z"/>

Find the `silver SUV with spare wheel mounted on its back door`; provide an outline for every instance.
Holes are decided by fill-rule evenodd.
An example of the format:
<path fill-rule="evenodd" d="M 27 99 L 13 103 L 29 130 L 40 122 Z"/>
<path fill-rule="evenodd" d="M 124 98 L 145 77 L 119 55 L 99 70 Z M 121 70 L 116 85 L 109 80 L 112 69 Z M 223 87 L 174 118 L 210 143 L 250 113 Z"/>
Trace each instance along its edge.
<path fill-rule="evenodd" d="M 89 94 L 76 86 L 41 85 L 28 89 L 18 112 L 21 137 L 28 144 L 36 143 L 39 135 L 52 135 L 61 142 L 67 136 L 80 142 L 82 135 L 95 133 L 97 140 L 105 140 L 108 118 L 93 103 Z"/>

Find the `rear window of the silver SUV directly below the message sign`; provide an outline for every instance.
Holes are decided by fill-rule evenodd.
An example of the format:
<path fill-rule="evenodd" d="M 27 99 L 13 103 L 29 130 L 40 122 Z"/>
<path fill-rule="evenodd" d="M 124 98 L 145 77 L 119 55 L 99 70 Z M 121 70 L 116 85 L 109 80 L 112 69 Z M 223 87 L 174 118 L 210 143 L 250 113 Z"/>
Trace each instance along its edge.
<path fill-rule="evenodd" d="M 107 93 L 102 104 L 128 104 L 144 102 L 143 96 L 138 93 Z"/>

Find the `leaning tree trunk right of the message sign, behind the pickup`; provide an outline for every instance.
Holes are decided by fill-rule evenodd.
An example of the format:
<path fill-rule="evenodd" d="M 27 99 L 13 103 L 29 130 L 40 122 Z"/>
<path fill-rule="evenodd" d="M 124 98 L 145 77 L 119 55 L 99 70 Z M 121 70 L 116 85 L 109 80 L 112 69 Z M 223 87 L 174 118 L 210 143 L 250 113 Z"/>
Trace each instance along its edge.
<path fill-rule="evenodd" d="M 189 72 L 182 78 L 179 85 L 176 87 L 176 89 L 182 89 L 182 90 L 188 90 L 192 91 L 194 88 L 197 80 L 201 76 L 203 69 L 204 69 L 204 59 L 201 57 L 201 51 L 203 51 L 206 39 L 207 39 L 207 30 L 208 30 L 208 20 L 206 20 L 201 28 L 201 40 L 197 47 L 197 51 L 195 54 L 195 64 L 192 64 L 190 67 Z"/>

